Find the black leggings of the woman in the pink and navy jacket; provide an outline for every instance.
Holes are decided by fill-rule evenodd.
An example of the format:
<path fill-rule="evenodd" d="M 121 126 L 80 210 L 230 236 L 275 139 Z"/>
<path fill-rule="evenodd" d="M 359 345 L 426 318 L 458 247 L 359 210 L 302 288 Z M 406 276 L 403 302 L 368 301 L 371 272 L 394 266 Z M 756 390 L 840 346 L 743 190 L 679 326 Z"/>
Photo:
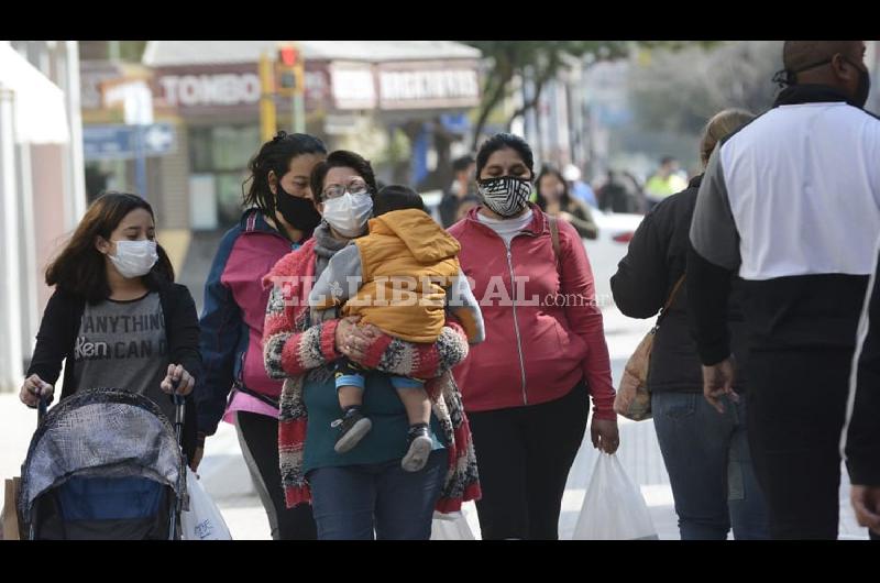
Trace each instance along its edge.
<path fill-rule="evenodd" d="M 239 411 L 235 428 L 256 493 L 268 516 L 274 540 L 317 540 L 311 505 L 287 508 L 278 468 L 278 421 L 265 415 Z"/>

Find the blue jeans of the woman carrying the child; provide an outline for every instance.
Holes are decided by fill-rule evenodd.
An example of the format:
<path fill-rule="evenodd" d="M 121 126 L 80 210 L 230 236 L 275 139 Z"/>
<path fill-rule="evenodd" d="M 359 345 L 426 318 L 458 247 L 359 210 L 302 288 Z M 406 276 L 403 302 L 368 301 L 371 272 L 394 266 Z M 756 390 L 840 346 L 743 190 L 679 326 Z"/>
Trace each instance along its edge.
<path fill-rule="evenodd" d="M 447 450 L 418 472 L 400 460 L 318 468 L 308 474 L 318 540 L 428 540 L 447 474 Z"/>

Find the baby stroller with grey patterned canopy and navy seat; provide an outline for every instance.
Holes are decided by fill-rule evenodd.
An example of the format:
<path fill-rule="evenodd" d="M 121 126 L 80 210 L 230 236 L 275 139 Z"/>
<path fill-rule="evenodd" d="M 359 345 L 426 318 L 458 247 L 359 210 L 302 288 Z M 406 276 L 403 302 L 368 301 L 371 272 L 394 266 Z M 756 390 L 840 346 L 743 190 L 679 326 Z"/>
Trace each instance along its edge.
<path fill-rule="evenodd" d="M 22 466 L 22 535 L 34 539 L 177 539 L 186 502 L 175 428 L 151 399 L 118 389 L 77 392 L 53 407 Z"/>

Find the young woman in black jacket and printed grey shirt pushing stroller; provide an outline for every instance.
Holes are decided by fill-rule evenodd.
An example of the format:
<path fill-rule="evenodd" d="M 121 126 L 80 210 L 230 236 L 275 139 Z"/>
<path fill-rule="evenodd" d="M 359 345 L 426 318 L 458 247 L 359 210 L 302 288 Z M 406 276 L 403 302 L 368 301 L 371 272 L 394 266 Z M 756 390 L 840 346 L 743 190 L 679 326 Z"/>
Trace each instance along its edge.
<path fill-rule="evenodd" d="M 141 197 L 108 193 L 88 209 L 46 270 L 55 286 L 43 314 L 20 398 L 53 398 L 66 361 L 62 400 L 77 389 L 117 387 L 153 400 L 175 418 L 170 396 L 186 397 L 183 450 L 196 449 L 191 396 L 199 375 L 199 326 L 187 288 L 156 243 L 153 209 Z"/>

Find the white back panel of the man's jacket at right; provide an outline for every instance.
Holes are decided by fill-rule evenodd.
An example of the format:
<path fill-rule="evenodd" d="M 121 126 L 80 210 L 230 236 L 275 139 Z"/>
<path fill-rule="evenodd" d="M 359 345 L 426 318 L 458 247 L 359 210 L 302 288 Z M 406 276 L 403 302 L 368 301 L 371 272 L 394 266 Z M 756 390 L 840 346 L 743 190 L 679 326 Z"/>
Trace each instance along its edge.
<path fill-rule="evenodd" d="M 867 275 L 880 232 L 880 120 L 844 102 L 781 106 L 721 148 L 746 279 Z"/>

